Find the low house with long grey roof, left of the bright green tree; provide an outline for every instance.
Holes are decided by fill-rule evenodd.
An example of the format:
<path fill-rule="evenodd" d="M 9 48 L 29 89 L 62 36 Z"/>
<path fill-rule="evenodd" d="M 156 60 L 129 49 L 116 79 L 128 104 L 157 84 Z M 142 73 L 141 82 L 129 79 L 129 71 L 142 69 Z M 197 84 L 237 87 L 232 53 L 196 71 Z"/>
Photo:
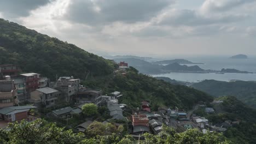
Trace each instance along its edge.
<path fill-rule="evenodd" d="M 51 111 L 51 113 L 57 118 L 71 118 L 74 114 L 79 115 L 80 113 L 82 113 L 82 110 L 72 109 L 70 106 L 68 106 L 62 109 Z"/>

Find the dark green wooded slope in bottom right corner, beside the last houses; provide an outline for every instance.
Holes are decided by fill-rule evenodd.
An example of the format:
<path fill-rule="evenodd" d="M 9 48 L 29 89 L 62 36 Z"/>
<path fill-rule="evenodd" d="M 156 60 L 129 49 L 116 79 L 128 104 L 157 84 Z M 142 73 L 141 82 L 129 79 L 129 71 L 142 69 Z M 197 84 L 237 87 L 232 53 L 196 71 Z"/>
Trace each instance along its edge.
<path fill-rule="evenodd" d="M 233 125 L 224 132 L 234 143 L 255 143 L 256 141 L 256 111 L 243 104 L 235 97 L 221 97 L 222 104 L 214 107 L 221 109 L 207 118 L 213 124 L 222 123 L 225 120 L 240 121 L 240 124 Z"/>

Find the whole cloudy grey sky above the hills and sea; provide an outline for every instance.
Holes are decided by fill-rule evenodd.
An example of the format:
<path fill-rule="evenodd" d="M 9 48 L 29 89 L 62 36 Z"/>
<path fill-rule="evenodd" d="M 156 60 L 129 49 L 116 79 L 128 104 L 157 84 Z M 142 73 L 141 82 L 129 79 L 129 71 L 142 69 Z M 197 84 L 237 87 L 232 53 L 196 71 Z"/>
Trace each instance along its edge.
<path fill-rule="evenodd" d="M 256 55 L 256 0 L 1 0 L 0 17 L 98 55 Z"/>

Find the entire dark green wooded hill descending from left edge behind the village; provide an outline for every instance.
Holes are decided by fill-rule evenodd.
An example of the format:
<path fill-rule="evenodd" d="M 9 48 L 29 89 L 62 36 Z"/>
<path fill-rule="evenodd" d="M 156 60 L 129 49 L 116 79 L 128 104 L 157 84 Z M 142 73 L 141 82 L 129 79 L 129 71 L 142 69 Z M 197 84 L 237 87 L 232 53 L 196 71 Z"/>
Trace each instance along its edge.
<path fill-rule="evenodd" d="M 114 76 L 117 65 L 112 61 L 3 19 L 0 19 L 0 47 L 0 64 L 16 64 L 23 71 L 39 73 L 52 80 L 56 74 L 85 80 L 89 74 L 83 81 L 86 87 L 101 88 L 104 93 L 120 91 L 124 93 L 123 101 L 133 107 L 139 106 L 141 100 L 149 100 L 155 106 L 190 109 L 197 101 L 213 99 L 193 88 L 138 74 L 133 68 L 126 76 Z"/>

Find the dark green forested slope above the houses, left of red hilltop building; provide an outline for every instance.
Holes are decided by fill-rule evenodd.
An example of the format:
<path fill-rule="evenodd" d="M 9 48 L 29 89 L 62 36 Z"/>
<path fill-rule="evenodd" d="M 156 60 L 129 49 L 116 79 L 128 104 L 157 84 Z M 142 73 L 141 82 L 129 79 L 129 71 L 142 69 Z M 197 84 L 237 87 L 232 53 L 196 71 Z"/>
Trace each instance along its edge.
<path fill-rule="evenodd" d="M 114 64 L 57 38 L 0 19 L 0 64 L 16 64 L 25 72 L 55 78 L 107 75 Z"/>

